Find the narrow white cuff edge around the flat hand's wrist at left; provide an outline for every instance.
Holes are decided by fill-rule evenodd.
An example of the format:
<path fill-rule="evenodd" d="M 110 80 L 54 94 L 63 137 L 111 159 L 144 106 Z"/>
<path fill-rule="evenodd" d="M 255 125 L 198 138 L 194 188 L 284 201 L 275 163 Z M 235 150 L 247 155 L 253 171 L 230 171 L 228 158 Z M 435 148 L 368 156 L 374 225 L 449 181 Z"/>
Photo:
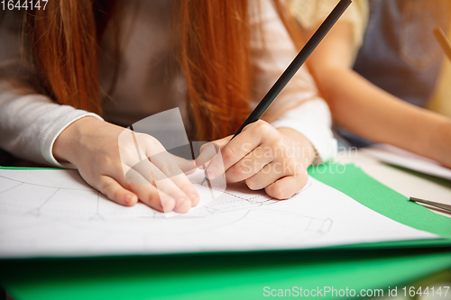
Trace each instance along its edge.
<path fill-rule="evenodd" d="M 63 105 L 64 106 L 64 105 Z M 70 106 L 68 106 L 69 108 Z M 70 107 L 72 108 L 72 107 Z M 73 109 L 73 108 L 72 108 Z M 53 144 L 60 135 L 62 131 L 64 131 L 71 123 L 86 117 L 93 116 L 99 120 L 104 121 L 102 117 L 98 114 L 87 113 L 83 110 L 73 109 L 69 112 L 69 114 L 61 115 L 57 120 L 55 120 L 41 135 L 40 141 L 40 150 L 42 157 L 51 165 L 59 168 L 67 168 L 68 166 L 63 166 L 58 162 L 57 159 L 53 157 Z"/>

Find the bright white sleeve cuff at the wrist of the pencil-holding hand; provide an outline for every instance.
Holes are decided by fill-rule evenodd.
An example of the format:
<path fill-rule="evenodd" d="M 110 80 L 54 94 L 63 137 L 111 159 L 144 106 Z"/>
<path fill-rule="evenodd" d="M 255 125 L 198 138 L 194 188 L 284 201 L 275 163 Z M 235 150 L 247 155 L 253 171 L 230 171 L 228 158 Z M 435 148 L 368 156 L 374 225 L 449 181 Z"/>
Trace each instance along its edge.
<path fill-rule="evenodd" d="M 318 151 L 321 162 L 336 158 L 337 142 L 330 129 L 330 111 L 324 100 L 318 98 L 307 101 L 271 124 L 275 128 L 286 127 L 304 135 Z"/>

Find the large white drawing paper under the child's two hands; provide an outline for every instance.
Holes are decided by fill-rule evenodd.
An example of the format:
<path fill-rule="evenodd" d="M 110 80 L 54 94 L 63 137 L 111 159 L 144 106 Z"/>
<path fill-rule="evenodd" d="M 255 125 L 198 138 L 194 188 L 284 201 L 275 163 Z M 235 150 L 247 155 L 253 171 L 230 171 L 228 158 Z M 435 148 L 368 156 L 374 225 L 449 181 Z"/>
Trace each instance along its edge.
<path fill-rule="evenodd" d="M 306 249 L 374 241 L 434 239 L 360 205 L 313 178 L 290 200 L 244 185 L 161 214 L 107 200 L 76 170 L 0 170 L 0 258 Z M 217 191 L 216 191 L 217 192 Z"/>

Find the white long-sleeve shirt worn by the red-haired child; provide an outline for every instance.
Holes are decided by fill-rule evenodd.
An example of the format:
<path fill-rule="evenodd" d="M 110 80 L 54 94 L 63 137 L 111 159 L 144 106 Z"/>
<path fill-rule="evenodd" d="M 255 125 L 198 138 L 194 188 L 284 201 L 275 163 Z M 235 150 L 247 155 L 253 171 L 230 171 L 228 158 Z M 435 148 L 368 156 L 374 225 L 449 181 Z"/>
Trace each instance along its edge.
<path fill-rule="evenodd" d="M 130 125 L 149 115 L 179 107 L 189 127 L 184 109 L 185 81 L 179 68 L 173 68 L 175 60 L 171 57 L 172 1 L 134 0 L 123 5 L 122 29 L 127 42 L 121 49 L 123 56 L 111 94 L 113 100 L 103 105 L 105 120 Z M 250 23 L 255 71 L 250 102 L 253 109 L 297 55 L 297 50 L 270 0 L 252 5 Z M 258 34 L 261 28 L 264 39 Z M 101 44 L 100 81 L 104 89 L 108 88 L 112 77 L 113 62 L 108 54 L 114 44 L 113 31 L 113 27 L 106 29 Z M 0 26 L 0 68 L 14 69 L 21 65 L 19 42 L 18 22 L 6 15 Z M 331 115 L 327 104 L 318 96 L 307 68 L 300 68 L 266 115 L 271 117 L 278 112 L 285 113 L 272 122 L 274 127 L 288 127 L 306 136 L 322 161 L 335 157 Z M 55 104 L 45 95 L 14 93 L 7 82 L 0 82 L 0 148 L 18 158 L 60 166 L 52 155 L 54 141 L 70 123 L 87 115 L 102 119 L 97 114 Z"/>

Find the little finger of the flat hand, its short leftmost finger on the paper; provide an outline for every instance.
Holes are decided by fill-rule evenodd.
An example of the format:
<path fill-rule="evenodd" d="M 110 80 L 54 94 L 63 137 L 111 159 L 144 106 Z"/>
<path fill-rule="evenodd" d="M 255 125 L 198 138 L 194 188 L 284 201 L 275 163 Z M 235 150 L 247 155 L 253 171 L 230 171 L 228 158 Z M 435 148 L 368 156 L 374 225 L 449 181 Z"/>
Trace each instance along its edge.
<path fill-rule="evenodd" d="M 125 189 L 112 177 L 101 175 L 94 187 L 119 205 L 133 206 L 138 202 L 138 197 L 135 194 Z"/>

